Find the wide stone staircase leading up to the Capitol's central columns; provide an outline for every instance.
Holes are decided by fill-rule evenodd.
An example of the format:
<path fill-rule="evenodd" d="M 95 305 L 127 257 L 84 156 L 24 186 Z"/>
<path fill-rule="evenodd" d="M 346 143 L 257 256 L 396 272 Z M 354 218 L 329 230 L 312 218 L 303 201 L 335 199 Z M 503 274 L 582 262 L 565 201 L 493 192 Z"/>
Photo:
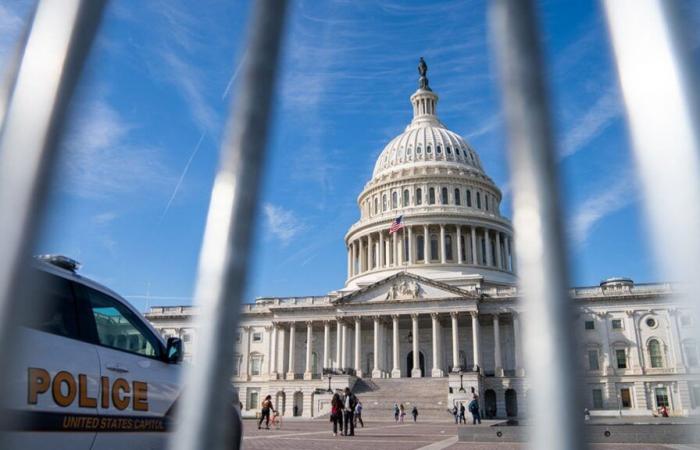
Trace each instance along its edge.
<path fill-rule="evenodd" d="M 362 402 L 366 420 L 394 420 L 394 403 L 403 403 L 406 419 L 413 420 L 411 410 L 418 407 L 418 420 L 449 421 L 447 412 L 448 379 L 382 378 L 359 379 L 353 392 Z"/>

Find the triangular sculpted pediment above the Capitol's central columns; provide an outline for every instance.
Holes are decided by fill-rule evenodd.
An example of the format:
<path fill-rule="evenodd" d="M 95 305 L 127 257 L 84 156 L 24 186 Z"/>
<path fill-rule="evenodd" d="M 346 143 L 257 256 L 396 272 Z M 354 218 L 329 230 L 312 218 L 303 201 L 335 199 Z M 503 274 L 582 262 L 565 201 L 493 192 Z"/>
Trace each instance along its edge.
<path fill-rule="evenodd" d="M 476 298 L 476 295 L 446 283 L 400 272 L 339 297 L 335 302 L 356 304 L 465 297 Z"/>

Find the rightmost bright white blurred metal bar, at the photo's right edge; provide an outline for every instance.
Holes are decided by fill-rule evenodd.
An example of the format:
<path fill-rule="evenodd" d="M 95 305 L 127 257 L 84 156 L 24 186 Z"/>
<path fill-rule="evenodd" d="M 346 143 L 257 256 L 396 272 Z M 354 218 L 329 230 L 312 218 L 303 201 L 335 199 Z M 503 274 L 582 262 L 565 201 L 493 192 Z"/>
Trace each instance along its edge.
<path fill-rule="evenodd" d="M 667 280 L 679 282 L 681 306 L 697 320 L 700 80 L 680 3 L 615 0 L 603 6 L 657 266 Z"/>

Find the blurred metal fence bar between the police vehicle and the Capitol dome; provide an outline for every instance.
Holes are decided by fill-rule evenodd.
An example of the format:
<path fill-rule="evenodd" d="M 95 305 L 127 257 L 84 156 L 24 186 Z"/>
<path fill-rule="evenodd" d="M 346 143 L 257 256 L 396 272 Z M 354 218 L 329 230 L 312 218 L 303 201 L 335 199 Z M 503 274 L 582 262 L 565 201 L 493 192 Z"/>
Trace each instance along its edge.
<path fill-rule="evenodd" d="M 235 330 L 244 293 L 267 124 L 284 24 L 284 0 L 254 2 L 248 55 L 221 147 L 209 205 L 195 292 L 201 305 L 197 359 L 186 373 L 180 427 L 171 445 L 179 450 L 229 449 Z"/>

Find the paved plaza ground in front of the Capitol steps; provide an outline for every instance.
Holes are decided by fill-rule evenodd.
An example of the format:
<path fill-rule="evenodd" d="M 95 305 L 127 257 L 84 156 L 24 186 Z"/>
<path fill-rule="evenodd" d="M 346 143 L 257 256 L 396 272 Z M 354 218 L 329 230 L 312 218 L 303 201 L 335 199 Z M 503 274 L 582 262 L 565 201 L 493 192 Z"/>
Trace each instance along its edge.
<path fill-rule="evenodd" d="M 525 449 L 516 443 L 457 442 L 457 425 L 437 422 L 366 423 L 355 431 L 354 437 L 333 436 L 328 420 L 288 420 L 280 429 L 258 430 L 257 423 L 244 421 L 243 449 L 368 449 L 373 450 L 510 450 Z M 462 425 L 464 426 L 464 425 Z M 467 425 L 472 426 L 472 425 Z M 481 425 L 489 426 L 488 424 Z M 700 445 L 674 444 L 596 444 L 593 450 L 692 450 Z"/>

